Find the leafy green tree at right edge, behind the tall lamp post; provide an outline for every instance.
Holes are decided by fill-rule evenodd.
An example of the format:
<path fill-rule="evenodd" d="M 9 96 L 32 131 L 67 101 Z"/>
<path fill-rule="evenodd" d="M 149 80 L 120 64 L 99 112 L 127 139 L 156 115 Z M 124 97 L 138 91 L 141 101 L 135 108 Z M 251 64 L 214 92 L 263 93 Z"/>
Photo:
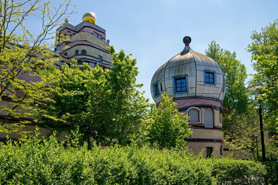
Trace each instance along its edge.
<path fill-rule="evenodd" d="M 262 27 L 261 32 L 253 31 L 251 39 L 252 43 L 248 45 L 247 51 L 254 55 L 252 65 L 256 74 L 252 75 L 250 83 L 265 84 L 258 96 L 262 104 L 264 123 L 270 131 L 278 132 L 278 19 Z"/>

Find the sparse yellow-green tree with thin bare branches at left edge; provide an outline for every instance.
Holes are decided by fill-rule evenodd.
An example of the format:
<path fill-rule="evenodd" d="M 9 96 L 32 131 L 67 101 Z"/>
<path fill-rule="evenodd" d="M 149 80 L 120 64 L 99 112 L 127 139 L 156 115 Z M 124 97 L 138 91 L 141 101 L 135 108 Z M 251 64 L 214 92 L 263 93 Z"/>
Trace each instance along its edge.
<path fill-rule="evenodd" d="M 52 101 L 49 84 L 57 80 L 58 70 L 54 64 L 60 58 L 57 52 L 49 50 L 54 44 L 48 41 L 56 39 L 58 42 L 52 30 L 74 13 L 69 10 L 71 7 L 74 5 L 70 0 L 59 2 L 52 9 L 50 1 L 1 0 L 0 97 L 9 100 L 9 105 L 0 107 L 3 115 L 0 132 L 20 130 L 23 123 L 30 122 L 22 118 L 37 115 L 43 111 L 39 105 Z M 41 30 L 36 34 L 24 25 L 30 17 L 36 17 L 41 23 Z M 65 40 L 67 37 L 60 38 L 60 42 Z M 6 125 L 10 119 L 21 121 L 12 126 Z"/>

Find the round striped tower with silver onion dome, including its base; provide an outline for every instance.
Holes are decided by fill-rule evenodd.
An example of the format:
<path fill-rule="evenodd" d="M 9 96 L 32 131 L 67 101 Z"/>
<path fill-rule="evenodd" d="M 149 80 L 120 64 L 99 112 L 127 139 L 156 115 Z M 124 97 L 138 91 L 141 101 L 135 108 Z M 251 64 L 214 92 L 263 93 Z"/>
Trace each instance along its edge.
<path fill-rule="evenodd" d="M 191 38 L 185 36 L 185 48 L 163 64 L 153 75 L 151 92 L 155 103 L 167 92 L 177 109 L 190 116 L 193 132 L 186 139 L 195 154 L 204 149 L 204 156 L 223 156 L 222 103 L 225 80 L 219 64 L 189 47 Z"/>

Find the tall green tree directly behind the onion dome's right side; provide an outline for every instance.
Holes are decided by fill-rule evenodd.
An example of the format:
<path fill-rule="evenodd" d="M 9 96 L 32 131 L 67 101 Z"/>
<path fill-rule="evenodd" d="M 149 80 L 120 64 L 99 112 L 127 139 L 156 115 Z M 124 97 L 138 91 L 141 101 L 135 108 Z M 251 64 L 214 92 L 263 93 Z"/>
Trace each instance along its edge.
<path fill-rule="evenodd" d="M 244 64 L 236 59 L 235 52 L 224 50 L 215 41 L 209 44 L 205 54 L 217 61 L 223 71 L 226 83 L 226 95 L 223 101 L 225 110 L 236 110 L 238 114 L 245 113 L 248 107 L 249 93 L 245 87 L 247 73 Z"/>

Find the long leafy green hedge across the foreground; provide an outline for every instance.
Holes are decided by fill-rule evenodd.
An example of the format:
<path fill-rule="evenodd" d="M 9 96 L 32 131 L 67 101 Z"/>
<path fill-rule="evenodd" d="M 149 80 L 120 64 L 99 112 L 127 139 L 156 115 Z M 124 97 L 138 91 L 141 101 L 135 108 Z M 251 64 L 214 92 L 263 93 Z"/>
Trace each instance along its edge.
<path fill-rule="evenodd" d="M 150 146 L 64 147 L 54 136 L 0 143 L 0 184 L 263 184 L 265 166 Z"/>

